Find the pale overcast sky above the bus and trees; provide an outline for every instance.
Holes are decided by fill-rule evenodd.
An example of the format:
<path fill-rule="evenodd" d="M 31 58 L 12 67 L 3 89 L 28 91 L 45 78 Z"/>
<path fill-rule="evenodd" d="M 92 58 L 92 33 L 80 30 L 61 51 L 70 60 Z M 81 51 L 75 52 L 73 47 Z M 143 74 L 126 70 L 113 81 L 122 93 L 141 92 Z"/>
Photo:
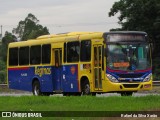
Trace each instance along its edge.
<path fill-rule="evenodd" d="M 119 0 L 0 0 L 0 25 L 11 32 L 28 13 L 34 14 L 51 34 L 71 31 L 109 31 L 120 27 L 108 17 Z"/>

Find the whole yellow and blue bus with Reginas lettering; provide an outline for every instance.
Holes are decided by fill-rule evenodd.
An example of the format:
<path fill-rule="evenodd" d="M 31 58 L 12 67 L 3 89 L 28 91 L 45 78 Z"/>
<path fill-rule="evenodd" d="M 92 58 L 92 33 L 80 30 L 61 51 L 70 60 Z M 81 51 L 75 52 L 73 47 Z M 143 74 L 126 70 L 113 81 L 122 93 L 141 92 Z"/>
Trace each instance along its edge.
<path fill-rule="evenodd" d="M 10 43 L 8 86 L 34 95 L 132 95 L 152 89 L 145 32 L 70 32 Z"/>

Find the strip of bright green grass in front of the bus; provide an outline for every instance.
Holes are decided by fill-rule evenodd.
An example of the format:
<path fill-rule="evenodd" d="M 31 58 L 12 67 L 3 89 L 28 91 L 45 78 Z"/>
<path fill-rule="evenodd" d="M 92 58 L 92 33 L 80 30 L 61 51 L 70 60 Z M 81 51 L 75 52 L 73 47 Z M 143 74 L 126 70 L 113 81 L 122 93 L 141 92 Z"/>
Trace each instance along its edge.
<path fill-rule="evenodd" d="M 0 97 L 0 111 L 143 111 L 160 110 L 160 96 L 143 97 Z"/>

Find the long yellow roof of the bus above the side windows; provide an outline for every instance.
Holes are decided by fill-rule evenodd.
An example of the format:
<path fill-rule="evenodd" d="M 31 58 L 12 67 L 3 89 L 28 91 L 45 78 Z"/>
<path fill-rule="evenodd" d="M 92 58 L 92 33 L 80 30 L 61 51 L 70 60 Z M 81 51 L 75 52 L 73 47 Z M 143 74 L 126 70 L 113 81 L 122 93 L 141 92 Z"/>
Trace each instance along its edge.
<path fill-rule="evenodd" d="M 61 34 L 43 35 L 37 39 L 27 41 L 12 42 L 9 47 L 30 46 L 38 44 L 50 44 L 57 42 L 69 42 L 76 40 L 98 39 L 102 38 L 103 32 L 69 32 Z"/>

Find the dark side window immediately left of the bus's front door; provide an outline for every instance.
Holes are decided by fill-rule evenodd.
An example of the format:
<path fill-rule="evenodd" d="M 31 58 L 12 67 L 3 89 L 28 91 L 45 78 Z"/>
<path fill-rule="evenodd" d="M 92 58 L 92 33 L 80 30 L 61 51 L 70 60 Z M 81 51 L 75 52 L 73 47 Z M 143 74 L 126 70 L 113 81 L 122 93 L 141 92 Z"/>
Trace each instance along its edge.
<path fill-rule="evenodd" d="M 81 42 L 81 61 L 91 60 L 91 41 L 85 40 Z"/>

